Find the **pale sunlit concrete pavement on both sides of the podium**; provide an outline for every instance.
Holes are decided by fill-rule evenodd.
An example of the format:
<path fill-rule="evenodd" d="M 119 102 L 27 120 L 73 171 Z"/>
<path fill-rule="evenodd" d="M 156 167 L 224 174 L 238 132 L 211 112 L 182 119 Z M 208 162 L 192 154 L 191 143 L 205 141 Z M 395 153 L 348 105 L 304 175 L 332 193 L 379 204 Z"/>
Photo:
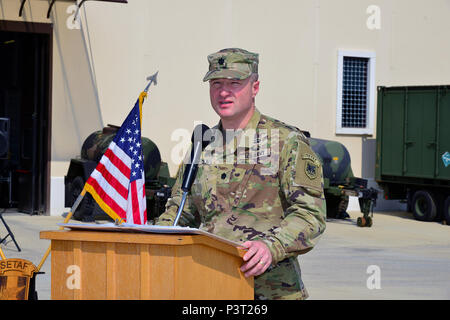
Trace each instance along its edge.
<path fill-rule="evenodd" d="M 351 219 L 332 220 L 316 248 L 299 257 L 310 299 L 450 299 L 450 226 L 419 222 L 406 212 L 374 214 L 371 228 Z M 56 230 L 62 217 L 30 216 L 7 210 L 4 218 L 22 251 L 2 244 L 7 258 L 36 266 L 49 240 L 42 230 Z M 0 223 L 0 238 L 6 230 Z M 8 240 L 10 240 L 8 238 Z M 38 298 L 50 299 L 50 257 L 36 279 Z"/>

